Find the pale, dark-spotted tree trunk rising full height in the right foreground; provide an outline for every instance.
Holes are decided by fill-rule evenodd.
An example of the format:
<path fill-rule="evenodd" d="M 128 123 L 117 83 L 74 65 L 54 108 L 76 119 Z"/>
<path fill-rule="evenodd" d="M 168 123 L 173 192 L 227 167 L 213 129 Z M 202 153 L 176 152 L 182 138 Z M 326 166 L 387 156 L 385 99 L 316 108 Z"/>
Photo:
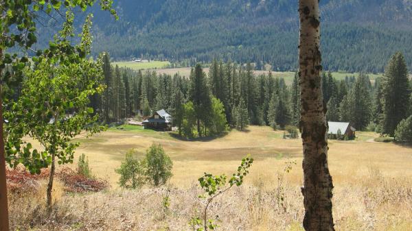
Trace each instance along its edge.
<path fill-rule="evenodd" d="M 306 231 L 334 231 L 332 176 L 328 168 L 326 106 L 321 90 L 319 1 L 299 0 L 299 77 L 304 147 L 304 195 Z"/>

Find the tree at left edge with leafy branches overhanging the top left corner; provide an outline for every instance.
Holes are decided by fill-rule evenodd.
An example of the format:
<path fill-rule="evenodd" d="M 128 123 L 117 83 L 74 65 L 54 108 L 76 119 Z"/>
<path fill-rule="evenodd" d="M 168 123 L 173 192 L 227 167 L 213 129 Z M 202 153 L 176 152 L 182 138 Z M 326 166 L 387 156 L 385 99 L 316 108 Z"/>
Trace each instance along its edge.
<path fill-rule="evenodd" d="M 67 10 L 70 12 L 72 8 L 77 6 L 86 10 L 88 6 L 93 5 L 96 0 L 84 1 L 15 1 L 3 0 L 1 2 L 0 16 L 0 229 L 8 230 L 8 206 L 7 206 L 7 190 L 5 185 L 5 145 L 3 137 L 3 103 L 8 103 L 10 91 L 16 84 L 22 80 L 23 69 L 25 64 L 28 64 L 27 56 L 19 56 L 17 53 L 10 55 L 4 53 L 8 49 L 21 47 L 27 51 L 32 45 L 37 42 L 36 37 L 36 20 L 38 20 L 39 11 L 44 11 L 50 15 L 52 12 L 60 12 Z M 110 10 L 111 14 L 116 16 L 115 10 L 111 9 L 113 1 L 101 0 L 100 6 L 102 10 Z M 117 17 L 117 16 L 116 16 Z M 80 56 L 84 58 L 85 52 L 79 49 Z M 49 49 L 36 51 L 36 56 L 41 56 L 45 53 L 48 57 L 60 58 L 69 53 L 76 53 L 76 49 L 69 43 L 56 46 L 50 42 Z M 33 58 L 36 60 L 37 58 Z M 12 66 L 12 71 L 5 71 L 5 66 Z M 17 142 L 19 143 L 19 142 Z"/>

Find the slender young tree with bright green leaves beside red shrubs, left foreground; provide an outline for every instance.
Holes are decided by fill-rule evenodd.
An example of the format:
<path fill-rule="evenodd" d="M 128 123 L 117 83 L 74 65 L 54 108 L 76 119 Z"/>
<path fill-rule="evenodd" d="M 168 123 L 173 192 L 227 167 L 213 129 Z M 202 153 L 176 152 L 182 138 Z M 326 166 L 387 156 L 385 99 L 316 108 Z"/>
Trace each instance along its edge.
<path fill-rule="evenodd" d="M 82 40 L 78 49 L 89 53 L 91 45 L 91 16 L 83 27 Z M 72 36 L 73 14 L 67 12 L 67 21 L 57 45 L 68 44 Z M 56 46 L 57 46 L 56 45 Z M 67 164 L 73 162 L 73 155 L 79 143 L 72 142 L 81 132 L 93 134 L 102 127 L 93 125 L 98 115 L 93 116 L 89 108 L 90 97 L 102 93 L 100 83 L 101 64 L 93 60 L 84 60 L 78 53 L 60 56 L 58 64 L 51 65 L 53 58 L 43 57 L 35 69 L 25 69 L 27 80 L 23 82 L 21 97 L 12 106 L 8 117 L 10 125 L 7 131 L 8 156 L 10 165 L 25 165 L 30 173 L 40 173 L 40 169 L 51 165 L 49 184 L 47 185 L 47 205 L 52 205 L 52 188 L 56 162 Z M 32 136 L 41 143 L 45 151 L 37 150 L 27 155 L 29 147 L 20 147 L 21 138 Z M 23 151 L 23 153 L 22 153 Z M 56 160 L 57 158 L 57 160 Z"/>

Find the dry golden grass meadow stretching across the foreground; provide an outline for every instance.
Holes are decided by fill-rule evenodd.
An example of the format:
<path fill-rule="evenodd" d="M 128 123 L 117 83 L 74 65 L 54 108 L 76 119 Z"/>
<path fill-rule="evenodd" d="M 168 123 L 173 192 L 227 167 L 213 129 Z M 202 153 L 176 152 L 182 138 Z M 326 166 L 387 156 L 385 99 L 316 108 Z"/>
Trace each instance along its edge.
<path fill-rule="evenodd" d="M 106 178 L 111 189 L 84 195 L 65 195 L 57 189 L 56 205 L 47 216 L 44 198 L 38 193 L 16 197 L 10 205 L 12 228 L 193 230 L 188 221 L 200 214 L 205 203 L 197 197 L 201 191 L 196 180 L 205 171 L 229 174 L 243 156 L 251 154 L 255 162 L 245 184 L 221 195 L 211 206 L 211 218 L 218 215 L 221 220 L 218 230 L 303 230 L 301 140 L 285 140 L 282 134 L 270 127 L 251 126 L 247 132 L 231 131 L 220 138 L 181 141 L 167 132 L 126 126 L 88 140 L 80 138 L 77 153 L 87 154 L 93 174 Z M 356 141 L 329 142 L 336 230 L 412 230 L 412 148 L 374 143 L 376 136 L 359 132 Z M 159 189 L 119 189 L 114 169 L 126 151 L 136 149 L 142 156 L 152 143 L 163 145 L 173 160 L 170 184 Z M 288 161 L 297 165 L 284 174 L 281 184 L 278 176 Z M 162 204 L 166 195 L 170 208 Z"/>

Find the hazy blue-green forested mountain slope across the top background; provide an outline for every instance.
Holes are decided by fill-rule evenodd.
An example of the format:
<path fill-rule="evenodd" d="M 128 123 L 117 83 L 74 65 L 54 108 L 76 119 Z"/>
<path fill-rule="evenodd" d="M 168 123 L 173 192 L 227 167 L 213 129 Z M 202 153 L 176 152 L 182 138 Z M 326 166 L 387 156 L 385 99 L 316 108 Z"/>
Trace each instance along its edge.
<path fill-rule="evenodd" d="M 297 67 L 297 0 L 119 0 L 95 12 L 94 54 L 213 58 Z M 395 51 L 412 69 L 412 0 L 321 0 L 323 66 L 381 72 Z"/>

